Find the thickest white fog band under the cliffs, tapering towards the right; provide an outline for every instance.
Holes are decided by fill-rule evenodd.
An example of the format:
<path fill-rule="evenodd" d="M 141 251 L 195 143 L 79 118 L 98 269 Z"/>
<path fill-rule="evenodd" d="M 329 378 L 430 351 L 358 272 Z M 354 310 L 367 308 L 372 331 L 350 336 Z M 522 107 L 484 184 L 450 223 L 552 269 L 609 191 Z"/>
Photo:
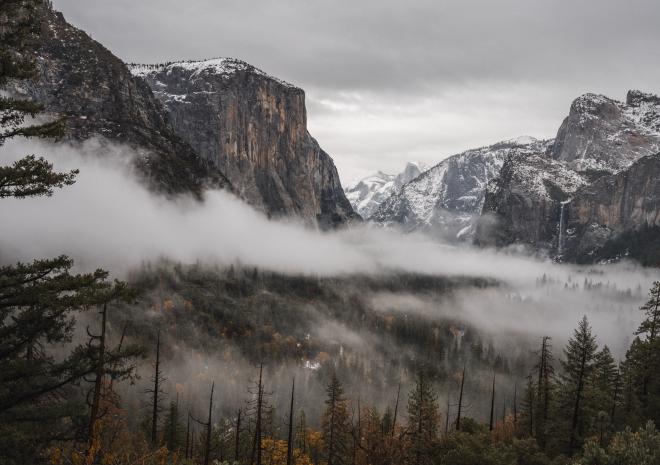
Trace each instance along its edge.
<path fill-rule="evenodd" d="M 2 261 L 70 254 L 82 267 L 119 272 L 143 261 L 240 262 L 289 273 L 333 275 L 409 271 L 479 276 L 512 284 L 546 273 L 564 280 L 568 267 L 491 250 L 455 248 L 423 235 L 357 226 L 322 233 L 292 221 L 270 221 L 234 196 L 210 191 L 203 203 L 149 192 L 131 169 L 133 154 L 89 141 L 68 145 L 12 142 L 3 160 L 45 154 L 55 168 L 79 168 L 76 184 L 50 198 L 0 202 Z M 620 268 L 620 267 L 619 267 Z M 613 280 L 627 270 L 608 267 Z"/>

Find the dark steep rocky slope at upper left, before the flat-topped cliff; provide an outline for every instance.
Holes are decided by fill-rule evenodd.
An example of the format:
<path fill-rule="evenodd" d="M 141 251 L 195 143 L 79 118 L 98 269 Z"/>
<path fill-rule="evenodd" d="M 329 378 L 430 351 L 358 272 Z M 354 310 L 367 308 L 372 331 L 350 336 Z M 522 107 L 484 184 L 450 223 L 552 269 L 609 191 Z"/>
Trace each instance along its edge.
<path fill-rule="evenodd" d="M 22 52 L 34 57 L 37 76 L 14 90 L 64 116 L 67 138 L 101 137 L 130 146 L 140 171 L 161 192 L 199 195 L 206 187 L 229 187 L 172 131 L 160 102 L 119 58 L 68 24 L 49 2 L 38 3 L 34 17 L 38 30 Z"/>

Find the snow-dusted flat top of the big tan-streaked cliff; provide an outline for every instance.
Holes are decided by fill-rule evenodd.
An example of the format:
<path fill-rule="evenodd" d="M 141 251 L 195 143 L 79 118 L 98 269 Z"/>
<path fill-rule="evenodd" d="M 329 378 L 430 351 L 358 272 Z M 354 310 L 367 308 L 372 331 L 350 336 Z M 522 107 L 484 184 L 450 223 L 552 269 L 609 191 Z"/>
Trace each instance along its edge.
<path fill-rule="evenodd" d="M 206 60 L 174 61 L 157 64 L 131 63 L 128 65 L 128 67 L 131 70 L 133 76 L 139 76 L 142 78 L 161 72 L 166 72 L 169 74 L 174 70 L 190 72 L 191 78 L 196 78 L 204 74 L 231 76 L 232 74 L 244 71 L 272 79 L 273 81 L 276 81 L 287 87 L 296 87 L 293 84 L 276 78 L 266 73 L 265 71 L 262 71 L 259 68 L 256 68 L 251 64 L 236 58 L 209 58 Z"/>

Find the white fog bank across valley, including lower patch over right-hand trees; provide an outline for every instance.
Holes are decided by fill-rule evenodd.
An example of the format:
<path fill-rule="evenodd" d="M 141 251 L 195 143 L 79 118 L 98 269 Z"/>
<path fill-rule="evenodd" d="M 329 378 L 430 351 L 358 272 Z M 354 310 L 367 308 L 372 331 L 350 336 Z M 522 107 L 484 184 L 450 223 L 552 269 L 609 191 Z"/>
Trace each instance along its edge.
<path fill-rule="evenodd" d="M 502 341 L 530 332 L 567 337 L 581 315 L 588 314 L 596 332 L 618 353 L 639 322 L 636 308 L 658 279 L 657 270 L 629 263 L 558 265 L 368 226 L 323 233 L 295 222 L 270 221 L 218 191 L 207 192 L 203 203 L 186 196 L 167 200 L 140 183 L 129 150 L 98 141 L 78 148 L 12 142 L 0 153 L 3 160 L 44 154 L 57 169 L 80 169 L 76 184 L 51 198 L 0 201 L 0 262 L 5 264 L 65 253 L 81 270 L 104 267 L 119 277 L 161 258 L 319 276 L 405 271 L 484 277 L 501 286 L 471 289 L 441 301 L 380 295 L 374 304 L 383 311 L 429 319 L 455 318 L 504 336 Z M 336 327 L 329 331 L 342 332 Z"/>

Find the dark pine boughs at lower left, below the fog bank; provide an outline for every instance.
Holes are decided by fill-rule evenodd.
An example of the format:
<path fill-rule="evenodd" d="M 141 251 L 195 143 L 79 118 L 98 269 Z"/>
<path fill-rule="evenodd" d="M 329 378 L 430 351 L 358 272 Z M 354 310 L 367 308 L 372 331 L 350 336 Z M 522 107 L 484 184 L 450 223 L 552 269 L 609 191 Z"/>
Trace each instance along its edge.
<path fill-rule="evenodd" d="M 60 257 L 0 267 L 0 462 L 12 463 L 4 453 L 38 454 L 56 437 L 90 431 L 75 385 L 98 375 L 99 346 L 55 351 L 71 341 L 75 314 L 102 305 L 112 285 L 104 271 L 72 275 L 72 266 Z M 103 378 L 132 356 L 106 351 Z M 72 430 L 83 424 L 85 432 Z"/>

